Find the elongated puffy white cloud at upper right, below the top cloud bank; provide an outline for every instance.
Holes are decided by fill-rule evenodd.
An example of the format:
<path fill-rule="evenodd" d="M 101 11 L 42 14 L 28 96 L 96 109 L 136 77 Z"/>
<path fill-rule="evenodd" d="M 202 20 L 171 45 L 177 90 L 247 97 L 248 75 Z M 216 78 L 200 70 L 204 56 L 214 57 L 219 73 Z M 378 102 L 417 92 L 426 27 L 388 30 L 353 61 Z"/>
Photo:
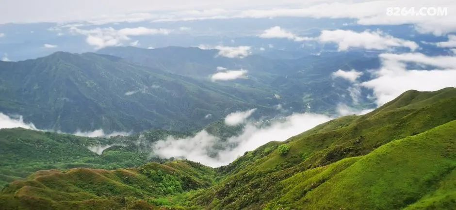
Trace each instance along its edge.
<path fill-rule="evenodd" d="M 379 49 L 385 50 L 391 47 L 404 47 L 414 51 L 419 46 L 415 42 L 392 37 L 381 31 L 354 32 L 344 30 L 322 31 L 318 40 L 323 43 L 337 44 L 339 51 L 349 48 Z"/>

